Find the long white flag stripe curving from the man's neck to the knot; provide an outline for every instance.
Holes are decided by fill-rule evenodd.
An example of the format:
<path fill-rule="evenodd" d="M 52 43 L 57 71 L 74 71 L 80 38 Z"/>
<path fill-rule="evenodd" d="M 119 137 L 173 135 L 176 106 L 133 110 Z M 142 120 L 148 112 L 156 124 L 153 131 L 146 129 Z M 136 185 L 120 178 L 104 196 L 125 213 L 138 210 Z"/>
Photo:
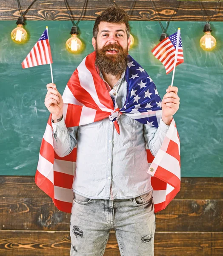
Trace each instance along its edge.
<path fill-rule="evenodd" d="M 106 106 L 104 106 L 98 99 L 97 92 L 94 85 L 94 79 L 92 77 L 91 72 L 86 68 L 85 61 L 86 61 L 86 58 L 84 58 L 83 61 L 80 63 L 80 65 L 77 67 L 80 86 L 83 87 L 87 92 L 89 92 L 94 102 L 102 111 L 107 111 L 112 113 L 113 110 L 106 108 Z"/>

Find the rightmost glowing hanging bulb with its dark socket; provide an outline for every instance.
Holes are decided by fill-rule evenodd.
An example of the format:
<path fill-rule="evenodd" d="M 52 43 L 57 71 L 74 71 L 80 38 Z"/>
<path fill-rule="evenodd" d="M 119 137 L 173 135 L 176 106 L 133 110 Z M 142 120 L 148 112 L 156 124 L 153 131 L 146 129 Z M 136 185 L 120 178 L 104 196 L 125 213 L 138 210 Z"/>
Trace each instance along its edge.
<path fill-rule="evenodd" d="M 211 35 L 212 29 L 209 23 L 206 23 L 203 29 L 204 35 L 200 38 L 200 47 L 204 51 L 212 51 L 216 47 L 216 39 Z"/>

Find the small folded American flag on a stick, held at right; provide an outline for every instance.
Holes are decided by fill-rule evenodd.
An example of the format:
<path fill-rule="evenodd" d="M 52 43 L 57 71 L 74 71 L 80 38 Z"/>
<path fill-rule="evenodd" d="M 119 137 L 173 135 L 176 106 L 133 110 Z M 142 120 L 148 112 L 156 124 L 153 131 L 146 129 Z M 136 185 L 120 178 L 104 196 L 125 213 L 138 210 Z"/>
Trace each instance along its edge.
<path fill-rule="evenodd" d="M 152 49 L 152 54 L 163 63 L 166 75 L 174 69 L 174 59 L 177 47 L 177 32 L 164 38 L 157 46 Z M 176 66 L 183 63 L 183 47 L 181 36 L 177 52 Z"/>

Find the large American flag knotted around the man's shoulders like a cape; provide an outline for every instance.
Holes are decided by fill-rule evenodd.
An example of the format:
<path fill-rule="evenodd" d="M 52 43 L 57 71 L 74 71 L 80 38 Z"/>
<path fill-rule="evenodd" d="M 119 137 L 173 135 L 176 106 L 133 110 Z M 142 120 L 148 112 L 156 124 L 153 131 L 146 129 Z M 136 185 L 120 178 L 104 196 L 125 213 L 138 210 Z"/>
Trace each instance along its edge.
<path fill-rule="evenodd" d="M 104 81 L 94 65 L 96 54 L 92 52 L 83 59 L 72 74 L 63 93 L 63 116 L 66 127 L 85 125 L 109 118 L 119 133 L 119 116 L 126 114 L 138 122 L 158 127 L 162 116 L 161 99 L 157 88 L 146 71 L 130 55 L 125 79 L 128 84 L 126 102 L 117 108 Z M 156 157 L 146 146 L 149 163 L 148 174 L 154 189 L 154 212 L 165 209 L 180 191 L 180 139 L 172 120 L 163 145 Z M 136 152 L 140 154 L 140 152 Z M 55 206 L 71 212 L 75 178 L 77 146 L 65 157 L 54 151 L 51 115 L 40 146 L 35 183 Z"/>

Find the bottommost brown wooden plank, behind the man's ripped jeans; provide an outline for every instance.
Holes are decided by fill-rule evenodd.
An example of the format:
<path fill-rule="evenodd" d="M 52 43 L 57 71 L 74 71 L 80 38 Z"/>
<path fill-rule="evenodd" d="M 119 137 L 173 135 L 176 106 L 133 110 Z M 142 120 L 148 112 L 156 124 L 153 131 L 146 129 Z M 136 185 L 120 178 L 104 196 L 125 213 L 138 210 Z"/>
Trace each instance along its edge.
<path fill-rule="evenodd" d="M 69 256 L 68 231 L 0 231 L 0 255 Z M 156 232 L 155 256 L 223 255 L 223 233 Z M 120 256 L 114 231 L 109 234 L 104 256 Z"/>

